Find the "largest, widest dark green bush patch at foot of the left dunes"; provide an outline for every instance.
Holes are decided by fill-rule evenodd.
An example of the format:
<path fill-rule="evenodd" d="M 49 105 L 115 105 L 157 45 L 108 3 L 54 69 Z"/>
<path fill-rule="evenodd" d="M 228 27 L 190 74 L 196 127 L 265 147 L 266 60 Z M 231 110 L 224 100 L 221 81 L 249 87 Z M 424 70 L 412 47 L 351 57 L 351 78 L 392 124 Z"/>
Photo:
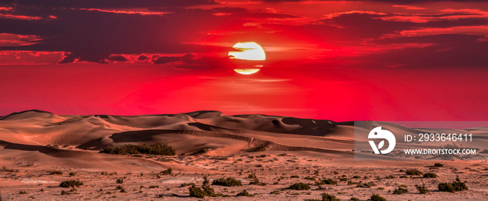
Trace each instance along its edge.
<path fill-rule="evenodd" d="M 100 153 L 105 154 L 155 154 L 164 156 L 174 156 L 176 151 L 173 147 L 168 146 L 166 143 L 158 142 L 153 145 L 148 145 L 146 143 L 139 143 L 138 145 L 110 145 Z"/>

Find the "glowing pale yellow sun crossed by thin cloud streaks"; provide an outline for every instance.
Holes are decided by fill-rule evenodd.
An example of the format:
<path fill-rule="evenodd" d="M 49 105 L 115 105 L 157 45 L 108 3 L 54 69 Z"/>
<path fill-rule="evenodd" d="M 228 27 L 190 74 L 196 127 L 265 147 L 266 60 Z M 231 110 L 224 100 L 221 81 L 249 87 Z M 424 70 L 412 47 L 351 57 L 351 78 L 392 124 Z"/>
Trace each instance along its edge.
<path fill-rule="evenodd" d="M 229 51 L 229 56 L 241 61 L 240 67 L 234 69 L 238 74 L 254 74 L 263 67 L 260 61 L 266 60 L 266 54 L 256 42 L 238 42 L 233 48 L 238 51 Z"/>

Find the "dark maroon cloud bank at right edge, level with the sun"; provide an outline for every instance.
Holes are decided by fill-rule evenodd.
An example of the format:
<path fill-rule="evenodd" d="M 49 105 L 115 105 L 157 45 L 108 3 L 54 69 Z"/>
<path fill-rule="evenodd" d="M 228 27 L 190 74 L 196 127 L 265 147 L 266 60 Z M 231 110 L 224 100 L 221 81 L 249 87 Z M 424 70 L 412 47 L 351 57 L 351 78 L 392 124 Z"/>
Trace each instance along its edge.
<path fill-rule="evenodd" d="M 441 34 L 418 37 L 390 38 L 379 44 L 430 43 L 428 47 L 393 49 L 383 54 L 371 54 L 356 61 L 369 66 L 399 65 L 401 67 L 486 67 L 488 42 L 482 35 Z"/>

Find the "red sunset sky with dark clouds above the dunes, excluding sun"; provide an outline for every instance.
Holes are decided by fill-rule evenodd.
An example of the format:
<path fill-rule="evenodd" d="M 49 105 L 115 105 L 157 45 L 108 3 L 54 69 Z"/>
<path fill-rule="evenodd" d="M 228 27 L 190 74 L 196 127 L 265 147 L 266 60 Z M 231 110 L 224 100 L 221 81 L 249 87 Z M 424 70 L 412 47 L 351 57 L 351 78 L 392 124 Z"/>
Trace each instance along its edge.
<path fill-rule="evenodd" d="M 0 1 L 0 115 L 488 120 L 482 1 L 71 2 Z"/>

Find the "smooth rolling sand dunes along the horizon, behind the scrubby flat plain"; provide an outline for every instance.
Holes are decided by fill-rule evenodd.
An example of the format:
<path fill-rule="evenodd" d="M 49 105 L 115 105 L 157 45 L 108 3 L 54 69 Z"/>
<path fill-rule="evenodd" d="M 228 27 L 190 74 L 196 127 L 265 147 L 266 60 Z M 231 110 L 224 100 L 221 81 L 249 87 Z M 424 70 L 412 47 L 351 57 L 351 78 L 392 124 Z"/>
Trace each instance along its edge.
<path fill-rule="evenodd" d="M 420 132 L 397 124 L 386 125 L 390 129 Z M 371 128 L 360 129 L 367 132 Z M 159 140 L 174 147 L 178 155 L 212 150 L 208 154 L 230 156 L 265 147 L 270 151 L 308 151 L 352 159 L 354 126 L 353 122 L 273 115 L 224 115 L 219 111 L 121 116 L 55 115 L 32 110 L 0 117 L 0 148 L 4 150 L 1 155 L 12 154 L 24 161 L 45 159 L 78 168 L 117 168 L 121 163 L 137 163 L 143 170 L 162 168 L 168 166 L 167 163 L 98 153 L 114 143 L 155 143 Z M 480 143 L 487 143 L 486 138 L 481 138 Z M 121 162 L 110 162 L 117 160 Z M 91 164 L 93 161 L 97 162 Z M 45 166 L 48 168 L 52 164 Z M 172 167 L 193 171 L 186 166 Z"/>

